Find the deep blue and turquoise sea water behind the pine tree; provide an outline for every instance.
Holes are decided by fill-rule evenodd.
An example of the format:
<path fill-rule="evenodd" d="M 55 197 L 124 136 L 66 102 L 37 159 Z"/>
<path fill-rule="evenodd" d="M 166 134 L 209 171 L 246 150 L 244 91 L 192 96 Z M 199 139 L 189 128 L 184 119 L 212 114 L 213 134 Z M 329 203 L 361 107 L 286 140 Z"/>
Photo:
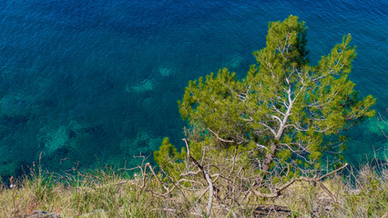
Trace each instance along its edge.
<path fill-rule="evenodd" d="M 268 22 L 288 15 L 306 22 L 312 63 L 352 35 L 351 78 L 387 118 L 386 1 L 0 1 L 0 175 L 39 156 L 62 171 L 134 164 L 165 136 L 181 144 L 188 81 L 225 66 L 243 75 Z M 376 118 L 350 134 L 353 162 L 388 148 Z"/>

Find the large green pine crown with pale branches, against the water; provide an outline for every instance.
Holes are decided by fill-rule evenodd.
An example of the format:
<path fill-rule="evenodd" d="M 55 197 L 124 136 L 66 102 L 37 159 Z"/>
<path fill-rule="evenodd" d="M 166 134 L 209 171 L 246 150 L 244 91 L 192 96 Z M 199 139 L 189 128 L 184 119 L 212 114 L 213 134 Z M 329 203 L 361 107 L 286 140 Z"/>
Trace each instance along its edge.
<path fill-rule="evenodd" d="M 209 130 L 206 140 L 220 148 L 258 145 L 253 150 L 260 160 L 271 144 L 272 159 L 315 168 L 323 153 L 341 154 L 344 145 L 329 146 L 328 139 L 342 143 L 344 130 L 374 115 L 375 99 L 362 98 L 349 79 L 356 56 L 351 35 L 311 65 L 306 33 L 297 16 L 270 23 L 266 47 L 253 53 L 257 65 L 245 78 L 223 68 L 189 81 L 178 103 L 182 118 Z"/>

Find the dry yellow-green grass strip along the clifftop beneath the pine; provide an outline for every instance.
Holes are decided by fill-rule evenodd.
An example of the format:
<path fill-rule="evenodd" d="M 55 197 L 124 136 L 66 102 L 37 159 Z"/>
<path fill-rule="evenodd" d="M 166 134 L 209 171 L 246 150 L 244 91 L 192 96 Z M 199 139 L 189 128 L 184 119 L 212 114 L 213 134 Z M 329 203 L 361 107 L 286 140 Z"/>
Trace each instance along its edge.
<path fill-rule="evenodd" d="M 159 197 L 158 181 L 146 175 L 146 191 L 127 173 L 101 169 L 90 173 L 44 173 L 40 169 L 16 180 L 15 188 L 0 184 L 0 217 L 23 217 L 34 210 L 61 217 L 202 217 L 206 197 L 193 190 L 177 190 Z M 358 172 L 334 175 L 324 185 L 294 183 L 276 199 L 252 197 L 249 203 L 230 211 L 215 203 L 211 217 L 250 217 L 255 205 L 278 204 L 291 210 L 291 217 L 388 217 L 388 168 L 386 163 L 362 166 Z M 149 192 L 151 191 L 151 192 Z M 215 200 L 217 201 L 217 200 Z"/>

